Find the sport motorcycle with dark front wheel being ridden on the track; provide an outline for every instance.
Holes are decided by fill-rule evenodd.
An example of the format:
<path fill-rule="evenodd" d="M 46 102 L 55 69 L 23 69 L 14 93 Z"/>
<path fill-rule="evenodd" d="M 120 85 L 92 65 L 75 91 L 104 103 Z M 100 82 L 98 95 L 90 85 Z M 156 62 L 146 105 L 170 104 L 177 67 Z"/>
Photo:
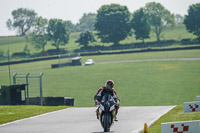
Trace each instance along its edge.
<path fill-rule="evenodd" d="M 98 106 L 100 123 L 104 129 L 104 132 L 109 132 L 112 124 L 114 123 L 113 120 L 116 117 L 115 100 L 109 93 L 107 93 L 102 97 L 102 100 Z"/>

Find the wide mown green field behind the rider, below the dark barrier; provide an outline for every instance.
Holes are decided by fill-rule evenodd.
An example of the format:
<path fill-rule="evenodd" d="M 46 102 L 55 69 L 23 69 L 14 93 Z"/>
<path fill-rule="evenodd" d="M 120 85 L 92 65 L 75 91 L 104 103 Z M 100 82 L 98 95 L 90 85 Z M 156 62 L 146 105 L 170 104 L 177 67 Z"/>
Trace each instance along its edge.
<path fill-rule="evenodd" d="M 200 50 L 83 57 L 97 63 L 124 60 L 200 58 Z M 68 59 L 66 59 L 68 60 Z M 58 60 L 11 66 L 12 74 L 43 76 L 44 96 L 74 97 L 75 106 L 93 106 L 93 96 L 107 79 L 115 81 L 122 106 L 179 105 L 200 95 L 200 61 L 153 61 L 51 69 Z M 8 66 L 0 66 L 0 84 L 9 84 Z M 38 90 L 39 91 L 39 90 Z M 30 95 L 35 96 L 34 91 Z M 38 95 L 39 96 L 39 95 Z"/>

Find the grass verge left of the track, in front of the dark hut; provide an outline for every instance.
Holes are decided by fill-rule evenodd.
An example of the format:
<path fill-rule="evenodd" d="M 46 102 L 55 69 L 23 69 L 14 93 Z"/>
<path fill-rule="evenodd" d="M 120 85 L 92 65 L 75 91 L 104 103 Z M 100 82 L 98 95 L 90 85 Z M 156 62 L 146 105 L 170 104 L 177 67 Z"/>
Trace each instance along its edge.
<path fill-rule="evenodd" d="M 0 124 L 52 112 L 68 106 L 0 106 Z"/>

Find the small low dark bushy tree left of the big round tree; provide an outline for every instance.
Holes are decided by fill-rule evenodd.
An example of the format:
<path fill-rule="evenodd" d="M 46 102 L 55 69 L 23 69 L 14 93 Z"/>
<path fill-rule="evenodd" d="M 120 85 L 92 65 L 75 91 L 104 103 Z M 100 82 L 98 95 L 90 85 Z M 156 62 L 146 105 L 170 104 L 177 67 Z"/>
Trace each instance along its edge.
<path fill-rule="evenodd" d="M 84 47 L 87 47 L 89 42 L 94 41 L 94 35 L 90 31 L 82 32 L 79 36 L 79 39 L 76 40 L 76 42 L 78 42 L 80 45 L 83 45 Z"/>

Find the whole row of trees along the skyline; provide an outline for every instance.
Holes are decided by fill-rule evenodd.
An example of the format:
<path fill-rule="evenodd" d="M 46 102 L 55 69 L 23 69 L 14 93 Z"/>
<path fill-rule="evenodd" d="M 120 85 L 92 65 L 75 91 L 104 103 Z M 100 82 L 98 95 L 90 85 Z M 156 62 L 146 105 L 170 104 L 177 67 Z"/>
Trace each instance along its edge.
<path fill-rule="evenodd" d="M 27 40 L 36 49 L 41 49 L 42 53 L 48 42 L 57 50 L 60 45 L 66 45 L 71 32 L 81 32 L 76 42 L 84 47 L 96 41 L 94 36 L 103 43 L 113 43 L 113 46 L 118 46 L 120 41 L 132 34 L 135 34 L 137 40 L 144 42 L 150 38 L 151 31 L 160 42 L 163 29 L 174 27 L 177 23 L 184 23 L 187 30 L 200 40 L 200 3 L 190 5 L 188 15 L 184 17 L 172 14 L 156 2 L 147 3 L 134 13 L 119 4 L 103 5 L 97 14 L 84 14 L 77 24 L 55 18 L 48 20 L 26 8 L 12 11 L 12 16 L 12 20 L 7 21 L 7 27 L 17 30 L 18 35 L 26 35 Z"/>

